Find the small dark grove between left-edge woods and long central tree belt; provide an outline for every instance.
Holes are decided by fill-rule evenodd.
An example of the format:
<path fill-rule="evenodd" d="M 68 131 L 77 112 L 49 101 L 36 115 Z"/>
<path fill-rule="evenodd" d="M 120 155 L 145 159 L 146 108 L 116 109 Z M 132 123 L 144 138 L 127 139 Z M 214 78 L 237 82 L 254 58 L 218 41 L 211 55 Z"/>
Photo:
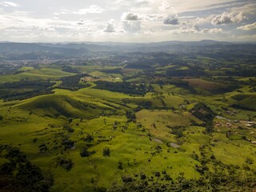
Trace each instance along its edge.
<path fill-rule="evenodd" d="M 80 83 L 80 79 L 89 76 L 88 74 L 76 74 L 69 77 L 60 78 L 62 81 L 62 84 L 58 86 L 60 89 L 64 90 L 79 90 L 82 88 L 86 88 L 89 85 Z"/>

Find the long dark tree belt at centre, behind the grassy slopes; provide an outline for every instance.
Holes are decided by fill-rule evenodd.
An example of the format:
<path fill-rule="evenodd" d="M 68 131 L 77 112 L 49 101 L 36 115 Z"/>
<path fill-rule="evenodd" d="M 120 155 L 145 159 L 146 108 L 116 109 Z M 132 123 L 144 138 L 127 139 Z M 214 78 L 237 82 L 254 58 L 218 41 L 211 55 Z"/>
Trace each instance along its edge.
<path fill-rule="evenodd" d="M 144 83 L 133 84 L 130 82 L 96 82 L 97 86 L 95 89 L 98 90 L 110 90 L 114 92 L 120 92 L 124 94 L 135 94 L 135 95 L 145 95 L 147 92 L 153 91 L 152 86 L 147 86 Z"/>

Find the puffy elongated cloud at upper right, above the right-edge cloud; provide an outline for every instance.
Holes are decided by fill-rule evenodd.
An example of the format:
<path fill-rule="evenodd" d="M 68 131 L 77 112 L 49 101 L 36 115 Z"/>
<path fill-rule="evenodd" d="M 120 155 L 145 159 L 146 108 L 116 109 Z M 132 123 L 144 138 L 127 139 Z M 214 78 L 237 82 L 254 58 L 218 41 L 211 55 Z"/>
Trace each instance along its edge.
<path fill-rule="evenodd" d="M 212 20 L 211 23 L 215 26 L 218 25 L 226 25 L 226 24 L 231 24 L 231 23 L 238 23 L 242 22 L 243 19 L 245 19 L 246 16 L 243 12 L 240 13 L 226 13 L 224 12 L 223 14 L 219 14 L 215 16 Z"/>

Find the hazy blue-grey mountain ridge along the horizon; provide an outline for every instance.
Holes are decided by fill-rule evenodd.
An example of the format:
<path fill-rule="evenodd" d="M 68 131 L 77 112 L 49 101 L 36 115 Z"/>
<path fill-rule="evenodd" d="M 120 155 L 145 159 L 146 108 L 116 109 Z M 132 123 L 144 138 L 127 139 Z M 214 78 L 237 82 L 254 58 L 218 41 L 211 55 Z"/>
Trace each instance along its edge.
<path fill-rule="evenodd" d="M 195 49 L 196 48 L 196 49 Z M 38 55 L 45 58 L 79 58 L 85 55 L 101 55 L 104 53 L 131 53 L 131 52 L 177 52 L 177 51 L 204 51 L 210 50 L 247 50 L 256 49 L 256 44 L 238 42 L 218 42 L 202 40 L 199 42 L 0 42 L 0 54 L 12 58 L 33 59 Z M 16 55 L 16 56 L 15 56 Z"/>

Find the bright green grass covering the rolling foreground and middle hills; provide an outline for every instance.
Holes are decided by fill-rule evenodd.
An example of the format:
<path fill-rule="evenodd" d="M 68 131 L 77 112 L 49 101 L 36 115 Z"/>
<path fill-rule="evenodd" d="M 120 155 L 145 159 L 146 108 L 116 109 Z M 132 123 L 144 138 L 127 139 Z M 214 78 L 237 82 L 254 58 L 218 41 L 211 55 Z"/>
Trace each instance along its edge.
<path fill-rule="evenodd" d="M 98 66 L 73 67 L 97 77 L 106 75 L 95 72 L 101 69 Z M 127 76 L 138 71 L 123 70 Z M 0 82 L 22 78 L 58 79 L 66 75 L 71 74 L 57 68 L 30 69 L 26 73 L 0 76 Z M 131 81 L 141 81 L 140 78 Z M 202 78 L 189 78 L 186 81 L 200 89 L 222 86 Z M 192 154 L 203 158 L 200 150 L 202 146 L 206 146 L 208 154 L 214 154 L 226 164 L 242 167 L 246 158 L 251 158 L 254 164 L 250 167 L 256 168 L 256 146 L 242 138 L 246 135 L 252 140 L 256 139 L 254 134 L 250 134 L 253 130 L 246 127 L 243 127 L 244 130 L 232 130 L 223 126 L 214 127 L 213 134 L 204 134 L 205 127 L 191 125 L 191 120 L 201 122 L 188 111 L 194 103 L 205 102 L 223 117 L 234 120 L 250 118 L 255 121 L 254 111 L 237 110 L 236 116 L 230 117 L 222 109 L 227 107 L 227 110 L 233 110 L 230 108 L 233 103 L 254 106 L 254 93 L 250 93 L 248 87 L 242 87 L 242 98 L 236 98 L 236 91 L 205 97 L 190 94 L 173 85 L 153 85 L 154 93 L 147 93 L 144 97 L 96 90 L 93 86 L 94 83 L 91 87 L 77 91 L 54 89 L 54 94 L 22 101 L 0 101 L 0 114 L 3 116 L 0 121 L 0 143 L 18 146 L 34 164 L 44 171 L 50 170 L 55 179 L 52 191 L 93 191 L 94 186 L 110 187 L 113 183 L 121 185 L 124 175 L 140 180 L 140 175 L 146 174 L 147 178 L 154 177 L 154 182 L 165 182 L 154 176 L 157 171 L 161 174 L 166 171 L 174 180 L 181 172 L 185 173 L 186 178 L 199 178 L 195 166 L 200 166 L 200 162 L 192 158 Z M 152 102 L 154 110 L 139 110 L 135 112 L 137 122 L 127 122 L 126 110 L 138 110 L 139 103 L 145 101 Z M 165 107 L 168 110 L 163 110 Z M 69 122 L 70 118 L 72 122 Z M 118 125 L 114 127 L 116 122 Z M 74 132 L 66 130 L 64 124 L 72 127 Z M 171 134 L 178 126 L 184 128 L 182 138 Z M 238 133 L 226 138 L 228 130 Z M 84 138 L 87 134 L 92 135 L 94 140 L 86 142 Z M 64 138 L 74 142 L 73 149 L 64 150 Z M 161 142 L 156 142 L 154 138 Z M 167 146 L 170 142 L 178 143 L 181 148 Z M 40 153 L 38 146 L 42 144 L 48 150 Z M 89 150 L 95 150 L 96 153 L 89 158 L 82 158 L 80 151 L 88 145 Z M 110 157 L 102 155 L 105 147 L 110 149 Z M 70 158 L 74 166 L 66 171 L 58 165 L 58 158 Z M 122 170 L 118 169 L 118 162 L 122 162 Z M 1 163 L 4 163 L 2 159 Z"/>

